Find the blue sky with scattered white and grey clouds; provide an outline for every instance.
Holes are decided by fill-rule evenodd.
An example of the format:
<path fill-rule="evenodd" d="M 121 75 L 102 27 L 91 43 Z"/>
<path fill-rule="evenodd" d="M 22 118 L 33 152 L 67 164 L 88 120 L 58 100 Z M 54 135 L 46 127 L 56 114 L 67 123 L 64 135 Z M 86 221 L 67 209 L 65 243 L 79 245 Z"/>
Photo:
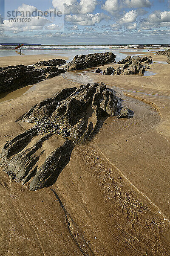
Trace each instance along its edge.
<path fill-rule="evenodd" d="M 170 0 L 0 0 L 0 13 L 0 43 L 170 44 Z"/>

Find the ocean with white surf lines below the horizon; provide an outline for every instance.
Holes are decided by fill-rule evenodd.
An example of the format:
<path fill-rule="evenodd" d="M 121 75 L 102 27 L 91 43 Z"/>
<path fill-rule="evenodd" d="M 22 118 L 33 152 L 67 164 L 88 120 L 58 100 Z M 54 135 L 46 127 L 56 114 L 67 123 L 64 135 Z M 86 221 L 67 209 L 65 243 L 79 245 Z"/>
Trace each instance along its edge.
<path fill-rule="evenodd" d="M 3 46 L 0 45 L 0 57 L 15 56 L 19 51 L 15 50 L 15 46 Z M 51 56 L 68 56 L 71 60 L 75 55 L 89 54 L 94 52 L 113 52 L 117 54 L 117 58 L 124 58 L 125 55 L 120 52 L 157 52 L 159 50 L 168 49 L 168 45 L 152 44 L 152 45 L 39 45 L 39 46 L 23 46 L 22 54 L 34 55 L 34 54 L 50 54 Z M 117 60 L 116 60 L 117 61 Z"/>

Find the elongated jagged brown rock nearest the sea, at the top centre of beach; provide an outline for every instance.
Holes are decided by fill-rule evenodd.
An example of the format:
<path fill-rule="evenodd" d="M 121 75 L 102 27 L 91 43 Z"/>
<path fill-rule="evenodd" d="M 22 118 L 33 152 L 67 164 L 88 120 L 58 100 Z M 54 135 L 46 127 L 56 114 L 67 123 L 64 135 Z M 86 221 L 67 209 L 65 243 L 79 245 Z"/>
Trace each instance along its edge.
<path fill-rule="evenodd" d="M 66 64 L 65 70 L 82 70 L 101 64 L 114 62 L 116 55 L 113 52 L 92 53 L 88 55 L 76 55 L 74 59 Z"/>

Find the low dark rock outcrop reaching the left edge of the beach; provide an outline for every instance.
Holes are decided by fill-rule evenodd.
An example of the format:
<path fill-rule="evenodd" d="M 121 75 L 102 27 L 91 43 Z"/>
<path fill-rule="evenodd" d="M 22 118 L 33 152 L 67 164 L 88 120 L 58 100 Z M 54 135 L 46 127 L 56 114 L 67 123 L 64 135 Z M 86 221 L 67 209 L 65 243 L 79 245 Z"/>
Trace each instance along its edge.
<path fill-rule="evenodd" d="M 64 69 L 57 67 L 41 69 L 25 65 L 0 67 L 0 93 L 35 84 L 46 78 L 59 76 L 63 72 Z"/>

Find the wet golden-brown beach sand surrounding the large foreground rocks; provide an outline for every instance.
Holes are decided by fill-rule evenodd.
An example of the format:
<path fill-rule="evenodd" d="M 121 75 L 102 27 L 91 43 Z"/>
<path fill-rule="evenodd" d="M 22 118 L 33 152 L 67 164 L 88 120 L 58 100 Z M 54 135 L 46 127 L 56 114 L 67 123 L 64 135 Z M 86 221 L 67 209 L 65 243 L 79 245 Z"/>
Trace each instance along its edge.
<path fill-rule="evenodd" d="M 74 148 L 53 186 L 30 192 L 0 170 L 0 255 L 170 255 L 170 66 L 150 71 L 156 75 L 88 73 L 116 91 L 131 118 L 106 119 L 91 142 Z M 16 119 L 75 81 L 57 76 L 1 99 L 0 148 L 24 131 Z"/>

